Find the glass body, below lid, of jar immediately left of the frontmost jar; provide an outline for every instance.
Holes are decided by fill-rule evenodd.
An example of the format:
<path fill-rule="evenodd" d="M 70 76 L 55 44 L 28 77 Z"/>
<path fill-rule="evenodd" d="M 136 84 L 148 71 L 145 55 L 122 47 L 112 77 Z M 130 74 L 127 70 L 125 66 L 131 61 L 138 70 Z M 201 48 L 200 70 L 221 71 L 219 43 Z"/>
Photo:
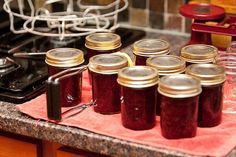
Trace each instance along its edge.
<path fill-rule="evenodd" d="M 121 118 L 132 130 L 151 129 L 156 123 L 157 85 L 146 88 L 121 86 Z"/>

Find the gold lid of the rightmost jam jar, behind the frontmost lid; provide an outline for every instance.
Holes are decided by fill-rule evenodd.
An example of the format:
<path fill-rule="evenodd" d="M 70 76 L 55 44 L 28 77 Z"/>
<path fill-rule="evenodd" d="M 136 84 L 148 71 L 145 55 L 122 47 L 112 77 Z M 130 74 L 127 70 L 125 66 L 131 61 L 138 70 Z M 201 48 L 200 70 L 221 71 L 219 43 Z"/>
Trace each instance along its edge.
<path fill-rule="evenodd" d="M 216 64 L 192 64 L 186 74 L 200 79 L 203 86 L 221 84 L 226 79 L 224 68 Z"/>

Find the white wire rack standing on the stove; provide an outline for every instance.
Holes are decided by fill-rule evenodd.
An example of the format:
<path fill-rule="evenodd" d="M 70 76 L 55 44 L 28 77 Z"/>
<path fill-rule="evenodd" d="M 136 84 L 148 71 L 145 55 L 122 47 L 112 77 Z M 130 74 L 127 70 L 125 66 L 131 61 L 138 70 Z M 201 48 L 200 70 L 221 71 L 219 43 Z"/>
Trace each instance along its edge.
<path fill-rule="evenodd" d="M 9 14 L 12 32 L 60 39 L 113 31 L 119 27 L 118 13 L 128 7 L 128 0 L 114 0 L 106 5 L 89 5 L 84 3 L 86 0 L 38 0 L 40 7 L 34 4 L 36 0 L 4 1 L 3 8 Z M 65 10 L 51 11 L 50 6 L 56 3 L 64 4 Z M 17 10 L 13 9 L 15 5 Z M 17 18 L 23 20 L 21 28 L 14 26 Z"/>

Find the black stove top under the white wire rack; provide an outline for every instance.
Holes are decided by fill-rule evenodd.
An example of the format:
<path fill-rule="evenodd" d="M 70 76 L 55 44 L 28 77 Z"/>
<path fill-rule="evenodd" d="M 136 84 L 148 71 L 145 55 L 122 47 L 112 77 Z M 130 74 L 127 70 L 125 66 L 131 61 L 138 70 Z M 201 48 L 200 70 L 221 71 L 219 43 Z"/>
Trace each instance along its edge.
<path fill-rule="evenodd" d="M 3 31 L 4 30 L 4 31 Z M 72 37 L 59 40 L 33 34 L 13 34 L 0 27 L 0 100 L 23 103 L 45 91 L 48 77 L 44 55 L 21 56 L 17 53 L 41 53 L 57 47 L 82 49 L 85 37 Z M 145 35 L 144 31 L 118 28 L 122 47 L 132 44 Z"/>

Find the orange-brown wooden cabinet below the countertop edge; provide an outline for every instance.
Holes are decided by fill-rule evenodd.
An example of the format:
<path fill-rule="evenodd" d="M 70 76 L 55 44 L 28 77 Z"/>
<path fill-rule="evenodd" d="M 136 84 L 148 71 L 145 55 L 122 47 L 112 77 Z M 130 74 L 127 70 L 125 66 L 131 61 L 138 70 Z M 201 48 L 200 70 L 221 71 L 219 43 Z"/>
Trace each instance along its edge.
<path fill-rule="evenodd" d="M 0 157 L 108 157 L 59 143 L 0 131 Z"/>

